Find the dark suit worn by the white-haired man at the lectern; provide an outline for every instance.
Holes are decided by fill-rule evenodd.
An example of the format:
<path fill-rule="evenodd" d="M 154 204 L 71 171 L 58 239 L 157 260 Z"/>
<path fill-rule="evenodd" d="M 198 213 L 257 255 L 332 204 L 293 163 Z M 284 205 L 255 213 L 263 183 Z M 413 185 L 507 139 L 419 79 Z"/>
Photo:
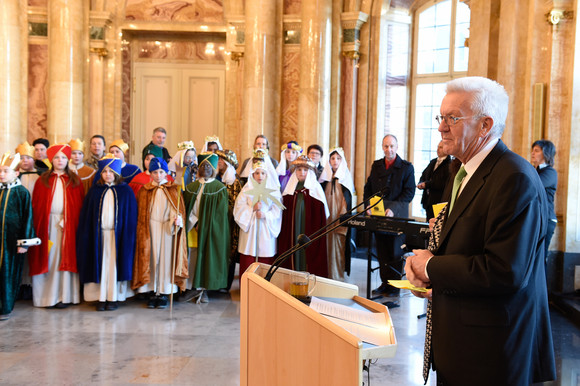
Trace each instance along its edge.
<path fill-rule="evenodd" d="M 427 265 L 434 368 L 450 385 L 555 379 L 544 187 L 499 142 L 455 201 Z"/>

